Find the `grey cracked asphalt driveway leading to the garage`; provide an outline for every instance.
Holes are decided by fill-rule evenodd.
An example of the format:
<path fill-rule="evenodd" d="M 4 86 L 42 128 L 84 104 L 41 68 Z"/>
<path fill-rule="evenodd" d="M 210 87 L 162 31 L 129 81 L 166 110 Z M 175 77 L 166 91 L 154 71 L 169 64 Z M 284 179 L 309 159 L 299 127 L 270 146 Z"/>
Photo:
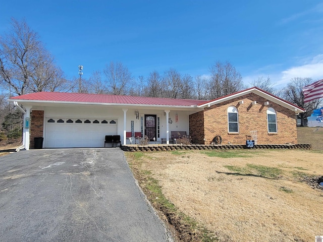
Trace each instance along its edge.
<path fill-rule="evenodd" d="M 1 241 L 173 241 L 118 148 L 0 157 Z"/>

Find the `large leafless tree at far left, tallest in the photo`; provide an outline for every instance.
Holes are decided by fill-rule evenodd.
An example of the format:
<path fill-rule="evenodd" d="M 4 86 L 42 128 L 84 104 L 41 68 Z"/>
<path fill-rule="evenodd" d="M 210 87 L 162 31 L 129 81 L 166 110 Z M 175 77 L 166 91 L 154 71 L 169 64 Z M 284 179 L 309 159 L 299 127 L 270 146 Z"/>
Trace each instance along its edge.
<path fill-rule="evenodd" d="M 68 82 L 55 65 L 54 58 L 43 47 L 38 34 L 24 20 L 12 19 L 11 25 L 11 32 L 0 37 L 3 87 L 10 87 L 17 95 L 65 88 Z"/>

